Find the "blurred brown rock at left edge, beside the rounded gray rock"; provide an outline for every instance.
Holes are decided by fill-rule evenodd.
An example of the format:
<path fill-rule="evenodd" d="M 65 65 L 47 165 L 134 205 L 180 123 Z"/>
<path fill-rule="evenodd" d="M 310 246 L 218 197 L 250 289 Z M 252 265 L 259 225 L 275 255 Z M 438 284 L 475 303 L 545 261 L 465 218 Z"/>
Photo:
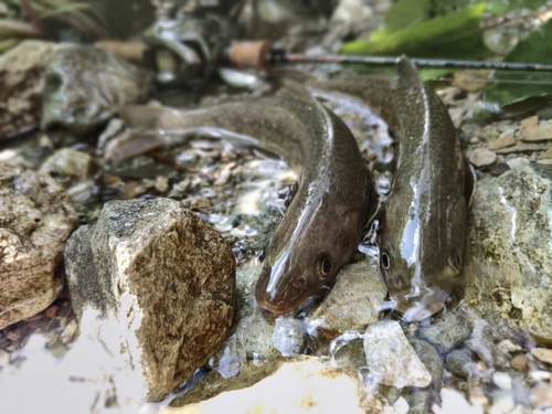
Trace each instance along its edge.
<path fill-rule="evenodd" d="M 0 139 L 40 124 L 42 73 L 61 47 L 64 45 L 30 40 L 0 55 Z"/>

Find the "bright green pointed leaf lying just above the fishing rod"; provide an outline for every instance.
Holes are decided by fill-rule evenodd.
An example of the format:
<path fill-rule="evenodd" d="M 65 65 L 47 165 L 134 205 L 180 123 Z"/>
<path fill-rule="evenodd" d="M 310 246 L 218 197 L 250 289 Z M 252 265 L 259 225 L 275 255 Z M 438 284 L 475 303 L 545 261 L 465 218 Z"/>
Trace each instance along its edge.
<path fill-rule="evenodd" d="M 417 57 L 480 59 L 490 52 L 479 19 L 485 4 L 417 23 L 381 39 L 347 43 L 340 53 Z"/>

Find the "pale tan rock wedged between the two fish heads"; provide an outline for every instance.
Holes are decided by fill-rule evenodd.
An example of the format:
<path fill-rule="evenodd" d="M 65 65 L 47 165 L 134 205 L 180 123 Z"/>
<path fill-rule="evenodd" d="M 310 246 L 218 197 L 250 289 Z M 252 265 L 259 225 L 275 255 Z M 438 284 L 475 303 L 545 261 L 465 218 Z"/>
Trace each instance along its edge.
<path fill-rule="evenodd" d="M 308 315 L 309 331 L 336 338 L 347 330 L 364 331 L 378 320 L 388 294 L 375 261 L 363 259 L 344 266 L 323 302 Z"/>

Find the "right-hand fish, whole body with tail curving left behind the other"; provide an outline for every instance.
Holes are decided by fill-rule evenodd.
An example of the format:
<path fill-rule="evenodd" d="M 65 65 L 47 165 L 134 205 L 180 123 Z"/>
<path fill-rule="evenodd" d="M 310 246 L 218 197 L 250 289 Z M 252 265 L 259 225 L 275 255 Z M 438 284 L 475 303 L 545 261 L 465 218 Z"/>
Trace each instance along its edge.
<path fill-rule="evenodd" d="M 436 314 L 463 283 L 474 189 L 445 105 L 405 56 L 392 76 L 348 74 L 307 79 L 306 87 L 315 96 L 331 91 L 360 98 L 388 124 L 395 172 L 380 216 L 380 267 L 405 321 Z"/>

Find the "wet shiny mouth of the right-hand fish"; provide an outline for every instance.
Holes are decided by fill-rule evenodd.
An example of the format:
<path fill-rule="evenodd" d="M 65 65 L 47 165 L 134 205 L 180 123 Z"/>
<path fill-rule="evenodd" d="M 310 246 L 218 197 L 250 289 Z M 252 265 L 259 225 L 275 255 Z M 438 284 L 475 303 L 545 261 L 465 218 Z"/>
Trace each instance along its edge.
<path fill-rule="evenodd" d="M 447 298 L 448 294 L 445 290 L 432 288 L 415 298 L 393 299 L 396 301 L 395 309 L 404 314 L 405 322 L 420 322 L 443 309 Z"/>

